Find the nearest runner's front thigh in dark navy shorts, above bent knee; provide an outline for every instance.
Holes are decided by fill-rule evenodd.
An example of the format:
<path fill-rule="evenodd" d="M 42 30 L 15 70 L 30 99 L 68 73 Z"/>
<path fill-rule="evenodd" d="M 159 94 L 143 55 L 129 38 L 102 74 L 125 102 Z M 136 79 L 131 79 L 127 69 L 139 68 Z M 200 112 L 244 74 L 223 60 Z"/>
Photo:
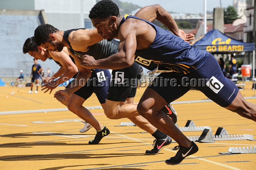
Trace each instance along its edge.
<path fill-rule="evenodd" d="M 170 103 L 186 94 L 191 88 L 182 86 L 182 77 L 170 73 L 161 73 L 148 86 L 158 93 L 166 103 Z M 146 92 L 146 91 L 145 91 Z M 145 94 L 144 92 L 144 94 Z"/>

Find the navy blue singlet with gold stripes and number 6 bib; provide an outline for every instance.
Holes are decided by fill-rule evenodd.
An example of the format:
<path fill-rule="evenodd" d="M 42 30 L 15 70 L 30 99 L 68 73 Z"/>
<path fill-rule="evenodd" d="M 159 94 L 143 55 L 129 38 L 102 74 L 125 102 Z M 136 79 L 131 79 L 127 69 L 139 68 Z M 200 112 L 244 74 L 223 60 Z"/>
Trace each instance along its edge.
<path fill-rule="evenodd" d="M 135 16 L 123 17 L 120 25 L 129 18 L 140 19 Z M 149 70 L 170 72 L 176 75 L 191 73 L 200 68 L 208 57 L 206 51 L 198 50 L 170 31 L 150 24 L 156 30 L 156 37 L 150 47 L 144 51 L 135 52 L 135 62 Z M 165 70 L 165 71 L 161 71 Z"/>

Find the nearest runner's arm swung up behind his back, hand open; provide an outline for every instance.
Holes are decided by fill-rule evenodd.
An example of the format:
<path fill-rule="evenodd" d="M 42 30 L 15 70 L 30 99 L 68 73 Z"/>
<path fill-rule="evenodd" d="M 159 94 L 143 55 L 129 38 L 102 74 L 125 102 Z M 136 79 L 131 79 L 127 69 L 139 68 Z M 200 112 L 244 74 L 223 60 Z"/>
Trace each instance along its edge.
<path fill-rule="evenodd" d="M 187 42 L 194 39 L 194 34 L 185 34 L 183 30 L 179 29 L 171 14 L 162 8 L 159 4 L 145 6 L 141 8 L 135 14 L 135 16 L 145 19 L 149 22 L 152 22 L 154 19 L 156 19 L 164 24 L 172 33 Z"/>

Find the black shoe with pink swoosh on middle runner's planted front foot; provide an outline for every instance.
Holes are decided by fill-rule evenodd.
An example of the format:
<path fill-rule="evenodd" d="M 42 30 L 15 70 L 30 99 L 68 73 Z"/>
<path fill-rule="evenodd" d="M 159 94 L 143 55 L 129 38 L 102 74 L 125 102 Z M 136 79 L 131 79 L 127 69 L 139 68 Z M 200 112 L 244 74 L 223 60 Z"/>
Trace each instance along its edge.
<path fill-rule="evenodd" d="M 166 138 L 160 139 L 160 140 L 154 140 L 153 145 L 154 148 L 150 151 L 146 151 L 146 155 L 156 155 L 158 154 L 164 147 L 171 144 L 171 137 L 167 135 Z"/>

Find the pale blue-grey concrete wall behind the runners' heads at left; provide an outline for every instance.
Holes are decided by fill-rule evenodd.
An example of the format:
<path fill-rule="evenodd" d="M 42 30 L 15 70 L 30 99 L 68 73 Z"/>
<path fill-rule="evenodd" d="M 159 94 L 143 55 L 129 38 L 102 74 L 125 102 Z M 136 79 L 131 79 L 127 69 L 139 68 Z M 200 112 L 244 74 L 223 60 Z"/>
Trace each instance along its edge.
<path fill-rule="evenodd" d="M 30 75 L 33 58 L 28 54 L 24 55 L 22 47 L 25 40 L 33 36 L 34 29 L 41 24 L 38 13 L 40 11 L 0 9 L 0 78 L 18 77 L 20 70 L 23 70 L 25 76 Z M 53 60 L 38 63 L 45 70 L 47 67 L 50 67 L 52 72 L 59 69 Z"/>

